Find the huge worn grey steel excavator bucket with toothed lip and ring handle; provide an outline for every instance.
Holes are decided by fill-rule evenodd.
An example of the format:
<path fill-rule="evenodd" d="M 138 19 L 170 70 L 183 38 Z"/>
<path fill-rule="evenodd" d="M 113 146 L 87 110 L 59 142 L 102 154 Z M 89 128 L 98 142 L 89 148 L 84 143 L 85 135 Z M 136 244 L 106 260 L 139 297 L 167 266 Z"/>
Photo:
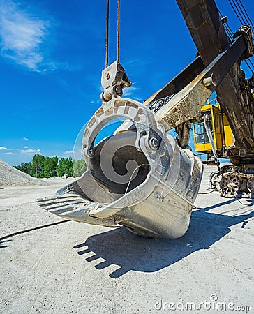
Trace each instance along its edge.
<path fill-rule="evenodd" d="M 124 124 L 95 144 L 116 117 L 124 117 Z M 142 103 L 119 96 L 103 102 L 84 130 L 87 171 L 38 204 L 78 222 L 123 225 L 146 237 L 181 237 L 200 187 L 202 162 L 166 130 Z"/>

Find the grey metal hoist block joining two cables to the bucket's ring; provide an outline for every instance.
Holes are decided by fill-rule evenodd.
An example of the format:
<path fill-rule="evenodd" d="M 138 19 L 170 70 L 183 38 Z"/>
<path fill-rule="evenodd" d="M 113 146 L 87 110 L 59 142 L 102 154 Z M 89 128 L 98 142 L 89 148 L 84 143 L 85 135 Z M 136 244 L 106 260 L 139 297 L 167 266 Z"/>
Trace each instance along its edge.
<path fill-rule="evenodd" d="M 104 89 L 101 94 L 103 101 L 110 101 L 112 98 L 122 96 L 124 87 L 130 87 L 131 82 L 126 71 L 118 61 L 107 66 L 101 74 L 101 85 Z"/>

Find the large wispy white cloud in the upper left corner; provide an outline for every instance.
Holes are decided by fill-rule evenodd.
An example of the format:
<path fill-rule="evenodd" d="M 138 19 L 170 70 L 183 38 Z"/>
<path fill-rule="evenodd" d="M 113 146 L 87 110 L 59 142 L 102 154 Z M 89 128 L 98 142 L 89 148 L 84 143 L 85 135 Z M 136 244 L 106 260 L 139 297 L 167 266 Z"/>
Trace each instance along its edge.
<path fill-rule="evenodd" d="M 45 60 L 43 43 L 50 22 L 20 8 L 12 0 L 0 1 L 1 54 L 28 70 L 54 70 L 55 64 Z"/>

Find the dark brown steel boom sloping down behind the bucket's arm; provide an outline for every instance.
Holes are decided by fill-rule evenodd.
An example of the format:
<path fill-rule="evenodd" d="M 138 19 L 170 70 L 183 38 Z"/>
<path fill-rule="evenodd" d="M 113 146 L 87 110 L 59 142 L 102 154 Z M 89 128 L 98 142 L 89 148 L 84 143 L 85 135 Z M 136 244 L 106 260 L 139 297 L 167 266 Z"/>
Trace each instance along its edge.
<path fill-rule="evenodd" d="M 177 3 L 204 66 L 207 66 L 229 43 L 216 3 L 214 0 L 177 0 Z M 240 59 L 252 55 L 253 42 L 249 38 L 246 53 Z M 241 96 L 239 66 L 240 62 L 232 66 L 216 87 L 216 94 L 232 128 L 235 147 L 254 153 L 254 112 L 248 110 L 248 104 Z"/>

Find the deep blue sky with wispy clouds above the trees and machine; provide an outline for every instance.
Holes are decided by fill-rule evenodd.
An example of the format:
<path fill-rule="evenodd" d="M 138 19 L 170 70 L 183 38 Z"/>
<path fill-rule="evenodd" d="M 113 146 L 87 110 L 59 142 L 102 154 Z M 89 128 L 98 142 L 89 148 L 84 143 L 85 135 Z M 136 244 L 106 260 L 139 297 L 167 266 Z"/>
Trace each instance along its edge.
<path fill-rule="evenodd" d="M 253 0 L 242 1 L 253 20 Z M 216 3 L 236 31 L 240 22 L 228 1 Z M 121 1 L 120 63 L 133 82 L 126 96 L 145 100 L 195 52 L 175 1 Z M 34 154 L 72 156 L 80 129 L 100 107 L 105 0 L 0 0 L 0 66 L 0 158 L 18 165 Z"/>

